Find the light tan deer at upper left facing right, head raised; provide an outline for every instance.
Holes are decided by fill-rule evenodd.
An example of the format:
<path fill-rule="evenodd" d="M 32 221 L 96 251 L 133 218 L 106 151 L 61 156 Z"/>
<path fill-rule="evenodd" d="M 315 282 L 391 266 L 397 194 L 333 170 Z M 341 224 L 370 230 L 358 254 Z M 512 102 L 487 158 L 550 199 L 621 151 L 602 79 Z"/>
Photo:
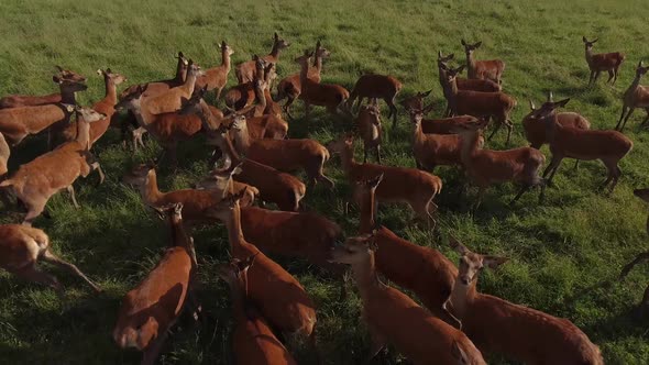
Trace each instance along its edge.
<path fill-rule="evenodd" d="M 142 109 L 151 114 L 177 111 L 180 109 L 183 98 L 189 99 L 191 97 L 196 86 L 196 79 L 202 75 L 204 73 L 200 69 L 200 66 L 189 59 L 185 84 L 151 97 L 145 96 L 144 100 L 142 100 Z M 146 89 L 148 89 L 148 87 Z"/>

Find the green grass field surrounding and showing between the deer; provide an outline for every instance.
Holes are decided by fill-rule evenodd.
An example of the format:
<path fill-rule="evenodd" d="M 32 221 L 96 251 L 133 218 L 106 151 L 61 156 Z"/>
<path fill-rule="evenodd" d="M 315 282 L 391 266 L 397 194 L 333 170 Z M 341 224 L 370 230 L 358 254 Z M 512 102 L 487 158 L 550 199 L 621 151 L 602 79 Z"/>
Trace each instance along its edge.
<path fill-rule="evenodd" d="M 233 47 L 233 64 L 265 54 L 277 31 L 292 42 L 280 56 L 282 76 L 296 71 L 293 58 L 317 40 L 332 53 L 322 80 L 350 88 L 365 71 L 392 74 L 404 82 L 402 97 L 433 89 L 439 115 L 444 103 L 437 80 L 437 51 L 464 59 L 460 40 L 483 41 L 477 57 L 507 63 L 504 88 L 518 100 L 514 145 L 526 145 L 520 119 L 527 100 L 539 101 L 548 90 L 570 97 L 569 110 L 585 115 L 593 128 L 615 126 L 620 96 L 634 77 L 635 65 L 649 58 L 647 10 L 644 1 L 0 1 L 0 95 L 54 92 L 53 66 L 59 64 L 89 77 L 82 104 L 103 97 L 97 68 L 110 67 L 129 85 L 170 77 L 173 54 L 183 51 L 204 68 L 220 63 L 217 44 Z M 615 87 L 587 88 L 582 35 L 600 37 L 596 52 L 627 54 Z M 230 85 L 234 84 L 231 74 Z M 649 81 L 648 81 L 649 82 Z M 298 102 L 296 115 L 302 115 Z M 387 111 L 387 110 L 384 110 Z M 386 114 L 384 114 L 385 117 Z M 400 236 L 436 247 L 458 258 L 448 246 L 454 234 L 476 252 L 506 255 L 510 262 L 485 273 L 479 288 L 513 302 L 564 317 L 602 347 L 607 364 L 649 363 L 649 321 L 634 316 L 647 285 L 649 265 L 617 283 L 622 266 L 647 250 L 646 208 L 631 193 L 649 184 L 649 134 L 638 129 L 644 111 L 627 125 L 632 152 L 622 162 L 624 176 L 613 196 L 597 189 L 604 179 L 598 162 L 583 163 L 578 172 L 565 162 L 543 204 L 528 193 L 513 208 L 512 185 L 488 190 L 481 209 L 471 213 L 469 197 L 457 197 L 460 176 L 454 169 L 436 173 L 444 181 L 438 198 L 438 230 L 409 225 L 410 211 L 382 207 L 380 222 Z M 386 121 L 386 124 L 387 121 Z M 310 124 L 290 123 L 292 137 L 328 142 L 349 122 L 317 110 Z M 389 130 L 389 124 L 386 126 Z M 504 148 L 504 134 L 488 144 Z M 415 166 L 410 126 L 400 111 L 398 130 L 383 146 L 384 163 Z M 11 157 L 12 170 L 45 152 L 43 139 L 21 145 Z M 136 154 L 122 150 L 119 133 L 109 132 L 95 153 L 107 181 L 96 176 L 77 181 L 75 210 L 65 193 L 51 200 L 52 219 L 35 226 L 51 236 L 54 250 L 76 263 L 106 292 L 96 296 L 76 278 L 48 268 L 67 287 L 66 306 L 53 290 L 24 284 L 0 273 L 0 362 L 4 364 L 135 364 L 140 355 L 120 351 L 111 339 L 122 296 L 155 265 L 166 245 L 166 230 L 141 202 L 139 193 L 120 182 L 134 164 L 155 158 L 160 147 L 148 142 Z M 361 148 L 358 148 L 360 156 Z M 549 157 L 547 147 L 543 148 Z M 163 170 L 161 188 L 188 187 L 207 173 L 208 150 L 200 140 L 180 147 L 182 168 Z M 358 211 L 343 214 L 349 196 L 338 158 L 327 165 L 337 180 L 334 193 L 321 187 L 307 193 L 307 204 L 340 223 L 348 234 L 358 229 Z M 2 213 L 0 221 L 15 217 Z M 164 364 L 231 364 L 229 290 L 213 268 L 228 259 L 222 226 L 195 232 L 200 264 L 200 299 L 207 320 L 178 328 L 162 357 Z M 365 358 L 369 339 L 360 320 L 361 301 L 351 294 L 338 300 L 337 284 L 305 262 L 277 258 L 306 287 L 318 306 L 319 346 L 327 364 L 358 364 Z M 389 316 L 389 313 L 386 313 Z M 488 329 L 497 333 L 497 329 Z M 306 347 L 293 346 L 300 363 L 311 363 Z M 393 363 L 398 357 L 393 353 Z M 507 364 L 488 357 L 492 364 Z"/>

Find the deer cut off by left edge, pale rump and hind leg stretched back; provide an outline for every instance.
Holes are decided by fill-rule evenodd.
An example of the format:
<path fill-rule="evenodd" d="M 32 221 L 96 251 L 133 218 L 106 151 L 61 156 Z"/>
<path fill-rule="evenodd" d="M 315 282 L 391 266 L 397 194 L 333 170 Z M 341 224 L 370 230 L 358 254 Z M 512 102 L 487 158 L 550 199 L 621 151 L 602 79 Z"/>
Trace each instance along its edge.
<path fill-rule="evenodd" d="M 41 272 L 38 262 L 65 268 L 88 283 L 96 292 L 101 291 L 75 265 L 50 250 L 50 237 L 42 230 L 19 224 L 0 224 L 0 267 L 25 280 L 52 287 L 63 298 L 63 286 L 54 275 Z"/>

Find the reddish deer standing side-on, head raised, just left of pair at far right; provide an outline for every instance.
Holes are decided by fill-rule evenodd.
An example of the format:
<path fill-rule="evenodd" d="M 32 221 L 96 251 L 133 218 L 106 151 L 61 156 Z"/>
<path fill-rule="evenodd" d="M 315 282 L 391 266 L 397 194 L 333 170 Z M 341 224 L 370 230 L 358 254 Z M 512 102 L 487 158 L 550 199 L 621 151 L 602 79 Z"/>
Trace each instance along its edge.
<path fill-rule="evenodd" d="M 546 156 L 531 147 L 519 147 L 506 151 L 481 148 L 481 130 L 487 124 L 482 121 L 474 124 L 458 125 L 455 132 L 462 140 L 460 157 L 470 180 L 477 185 L 477 200 L 474 209 L 480 207 L 482 197 L 488 186 L 496 182 L 519 182 L 522 185 L 514 204 L 524 192 L 531 187 L 540 186 L 539 201 L 543 200 L 546 182 L 539 176 L 539 170 L 546 163 Z"/>

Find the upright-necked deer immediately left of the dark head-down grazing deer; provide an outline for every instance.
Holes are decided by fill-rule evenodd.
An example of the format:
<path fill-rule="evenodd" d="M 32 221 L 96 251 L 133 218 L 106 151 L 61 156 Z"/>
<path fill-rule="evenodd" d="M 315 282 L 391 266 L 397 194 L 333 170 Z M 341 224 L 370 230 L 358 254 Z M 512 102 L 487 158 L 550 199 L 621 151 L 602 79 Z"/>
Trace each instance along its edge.
<path fill-rule="evenodd" d="M 305 102 L 306 119 L 309 119 L 311 106 L 326 107 L 332 114 L 346 113 L 344 106 L 350 92 L 340 85 L 320 84 L 309 78 L 309 69 L 314 53 L 308 51 L 295 62 L 300 65 L 300 97 Z"/>

